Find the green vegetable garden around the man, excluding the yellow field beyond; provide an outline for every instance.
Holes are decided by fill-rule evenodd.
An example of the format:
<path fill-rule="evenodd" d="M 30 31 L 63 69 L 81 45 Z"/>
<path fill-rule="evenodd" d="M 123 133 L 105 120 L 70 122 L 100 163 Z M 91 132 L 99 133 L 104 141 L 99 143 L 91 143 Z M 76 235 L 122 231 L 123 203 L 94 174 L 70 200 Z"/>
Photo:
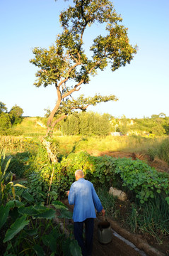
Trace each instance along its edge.
<path fill-rule="evenodd" d="M 10 143 L 6 138 L 8 152 Z M 13 145 L 18 151 L 16 143 Z M 1 151 L 0 228 L 4 255 L 81 255 L 72 229 L 68 238 L 54 223 L 56 210 L 60 217 L 71 218 L 61 201 L 74 182 L 76 169 L 83 169 L 93 182 L 107 215 L 133 233 L 149 234 L 163 243 L 169 234 L 169 174 L 139 159 L 91 156 L 86 151 L 60 155 L 59 162 L 51 164 L 45 148 L 32 139 L 23 139 L 17 153 L 5 156 Z M 13 181 L 13 173 L 18 181 Z M 125 214 L 125 203 L 118 203 L 108 194 L 110 186 L 127 193 Z"/>

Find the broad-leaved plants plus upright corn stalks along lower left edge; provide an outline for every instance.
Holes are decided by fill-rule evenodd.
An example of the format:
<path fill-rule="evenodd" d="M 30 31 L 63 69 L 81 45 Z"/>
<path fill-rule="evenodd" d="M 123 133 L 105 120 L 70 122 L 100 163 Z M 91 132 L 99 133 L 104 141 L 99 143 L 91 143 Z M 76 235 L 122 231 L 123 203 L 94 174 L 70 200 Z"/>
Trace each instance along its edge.
<path fill-rule="evenodd" d="M 55 210 L 43 206 L 42 203 L 35 204 L 35 197 L 31 196 L 21 184 L 14 184 L 12 181 L 6 183 L 9 161 L 5 161 L 5 155 L 1 152 L 0 165 L 0 231 L 1 231 L 1 253 L 3 255 L 34 255 L 40 253 L 45 255 L 62 255 L 69 252 L 69 255 L 81 255 L 80 247 L 70 238 L 59 232 L 59 228 L 52 224 L 55 217 Z M 27 183 L 28 184 L 28 183 Z M 15 189 L 18 186 L 18 189 Z M 51 192 L 51 191 L 50 191 Z M 44 195 L 40 191 L 41 196 Z M 51 196 L 54 196 L 51 192 Z M 17 199 L 19 200 L 17 200 Z M 21 202 L 22 201 L 22 202 Z M 54 206 L 57 206 L 55 201 Z M 69 210 L 65 206 L 61 209 L 62 218 L 71 218 Z M 48 242 L 47 242 L 48 241 Z M 78 253 L 78 254 L 76 254 Z"/>

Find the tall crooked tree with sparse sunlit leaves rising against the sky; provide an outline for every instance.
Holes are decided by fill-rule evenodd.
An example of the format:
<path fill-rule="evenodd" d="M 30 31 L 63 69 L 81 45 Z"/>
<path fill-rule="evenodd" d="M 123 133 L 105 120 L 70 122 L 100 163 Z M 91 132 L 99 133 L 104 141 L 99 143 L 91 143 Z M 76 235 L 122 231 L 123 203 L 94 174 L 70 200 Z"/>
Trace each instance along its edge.
<path fill-rule="evenodd" d="M 117 100 L 115 95 L 81 96 L 76 100 L 71 95 L 88 84 L 91 75 L 96 75 L 99 69 L 105 70 L 109 65 L 115 71 L 133 59 L 136 46 L 129 43 L 127 28 L 120 24 L 121 21 L 110 1 L 74 0 L 74 6 L 60 14 L 63 32 L 57 35 L 56 43 L 49 49 L 33 49 L 35 58 L 30 63 L 39 68 L 34 85 L 54 85 L 57 91 L 57 103 L 47 121 L 47 134 L 74 109 L 86 110 L 89 105 Z M 83 37 L 93 23 L 102 27 L 93 39 L 91 54 L 87 55 Z M 58 118 L 54 119 L 56 114 Z"/>

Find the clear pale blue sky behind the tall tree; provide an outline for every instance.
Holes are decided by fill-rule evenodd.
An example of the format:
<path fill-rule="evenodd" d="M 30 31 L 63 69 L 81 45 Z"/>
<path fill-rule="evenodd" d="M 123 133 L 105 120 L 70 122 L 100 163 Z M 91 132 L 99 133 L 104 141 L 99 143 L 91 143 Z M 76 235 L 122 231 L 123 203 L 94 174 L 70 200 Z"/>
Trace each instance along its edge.
<path fill-rule="evenodd" d="M 115 0 L 115 10 L 129 28 L 130 43 L 139 46 L 130 65 L 112 73 L 100 72 L 79 94 L 116 95 L 118 102 L 101 103 L 89 110 L 115 117 L 169 116 L 169 1 Z M 59 13 L 71 0 L 0 0 L 0 101 L 8 111 L 23 108 L 24 116 L 41 116 L 57 100 L 54 86 L 37 88 L 32 48 L 48 48 L 62 32 Z M 95 32 L 99 28 L 95 26 Z M 91 31 L 91 33 L 93 33 Z M 86 39 L 91 38 L 90 28 Z M 100 33 L 100 31 L 99 31 Z M 78 96 L 78 95 L 77 95 Z"/>

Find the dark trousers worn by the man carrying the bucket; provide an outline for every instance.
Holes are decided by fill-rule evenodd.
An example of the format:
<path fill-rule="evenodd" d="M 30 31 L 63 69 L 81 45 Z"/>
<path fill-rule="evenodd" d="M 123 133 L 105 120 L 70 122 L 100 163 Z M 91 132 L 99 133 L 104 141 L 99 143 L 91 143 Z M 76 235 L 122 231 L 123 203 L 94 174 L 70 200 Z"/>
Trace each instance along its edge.
<path fill-rule="evenodd" d="M 83 223 L 85 224 L 85 242 L 83 240 Z M 91 255 L 93 247 L 93 228 L 93 218 L 87 218 L 82 222 L 74 222 L 74 238 L 78 241 L 83 256 Z"/>

